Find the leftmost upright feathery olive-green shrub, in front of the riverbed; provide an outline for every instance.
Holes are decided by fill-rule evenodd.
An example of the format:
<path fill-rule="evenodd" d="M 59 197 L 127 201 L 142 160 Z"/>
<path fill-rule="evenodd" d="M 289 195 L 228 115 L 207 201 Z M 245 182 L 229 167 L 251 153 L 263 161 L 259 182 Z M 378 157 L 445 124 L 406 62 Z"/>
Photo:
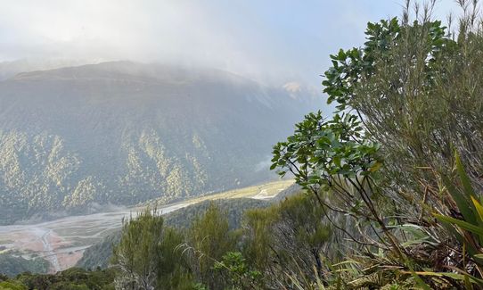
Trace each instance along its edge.
<path fill-rule="evenodd" d="M 180 245 L 184 236 L 147 209 L 124 225 L 112 266 L 120 289 L 192 289 L 189 265 Z"/>

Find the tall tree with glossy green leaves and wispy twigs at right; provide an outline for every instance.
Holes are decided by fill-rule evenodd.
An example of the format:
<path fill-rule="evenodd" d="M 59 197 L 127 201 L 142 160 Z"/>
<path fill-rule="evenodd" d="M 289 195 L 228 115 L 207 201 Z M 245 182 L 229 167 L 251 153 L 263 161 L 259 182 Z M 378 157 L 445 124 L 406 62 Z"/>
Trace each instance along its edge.
<path fill-rule="evenodd" d="M 272 169 L 291 172 L 366 261 L 376 263 L 378 249 L 420 283 L 414 269 L 447 271 L 461 265 L 447 257 L 466 251 L 432 214 L 463 216 L 442 182 L 454 179 L 454 152 L 469 184 L 483 190 L 483 21 L 478 1 L 460 1 L 459 30 L 449 33 L 430 18 L 434 1 L 416 5 L 413 20 L 409 3 L 402 19 L 369 23 L 363 47 L 331 55 L 323 86 L 337 111 L 327 120 L 307 114 L 274 146 Z M 362 221 L 360 235 L 328 211 L 351 217 L 355 228 Z M 436 280 L 427 278 L 440 286 Z"/>

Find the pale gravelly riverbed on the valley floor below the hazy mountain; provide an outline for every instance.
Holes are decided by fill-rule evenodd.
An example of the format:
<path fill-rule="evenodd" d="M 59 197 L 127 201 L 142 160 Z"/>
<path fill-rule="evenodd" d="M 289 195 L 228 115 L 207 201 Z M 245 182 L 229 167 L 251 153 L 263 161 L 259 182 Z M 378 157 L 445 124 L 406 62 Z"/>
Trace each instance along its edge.
<path fill-rule="evenodd" d="M 280 180 L 199 196 L 179 203 L 162 205 L 158 207 L 158 212 L 165 214 L 207 200 L 241 197 L 270 199 L 292 184 L 293 180 Z M 0 249 L 4 248 L 3 253 L 21 254 L 26 259 L 40 256 L 49 261 L 50 272 L 68 269 L 77 263 L 86 248 L 119 230 L 123 219 L 135 216 L 144 208 L 144 206 L 119 208 L 111 212 L 69 216 L 40 223 L 2 226 L 0 227 Z"/>

